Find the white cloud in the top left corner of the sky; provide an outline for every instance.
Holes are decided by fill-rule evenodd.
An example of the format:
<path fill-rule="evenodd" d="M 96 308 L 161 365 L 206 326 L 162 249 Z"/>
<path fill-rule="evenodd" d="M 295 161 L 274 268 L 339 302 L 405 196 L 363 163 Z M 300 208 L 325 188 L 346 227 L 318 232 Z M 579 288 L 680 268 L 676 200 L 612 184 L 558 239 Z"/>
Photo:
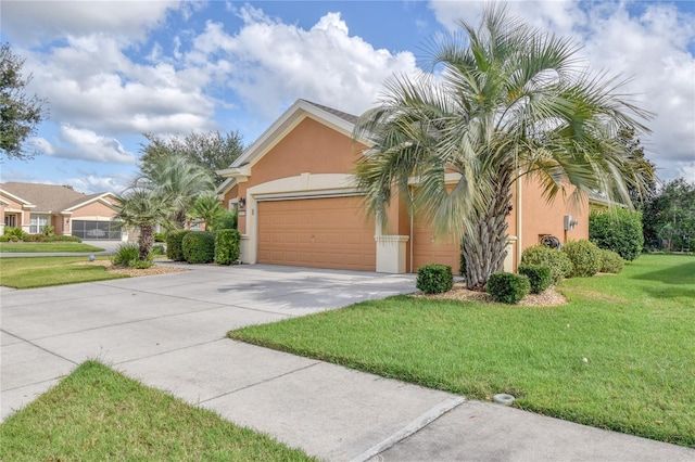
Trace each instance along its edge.
<path fill-rule="evenodd" d="M 169 10 L 180 8 L 178 0 L 4 0 L 2 28 L 5 34 L 30 43 L 97 33 L 142 39 L 148 29 L 162 24 Z"/>

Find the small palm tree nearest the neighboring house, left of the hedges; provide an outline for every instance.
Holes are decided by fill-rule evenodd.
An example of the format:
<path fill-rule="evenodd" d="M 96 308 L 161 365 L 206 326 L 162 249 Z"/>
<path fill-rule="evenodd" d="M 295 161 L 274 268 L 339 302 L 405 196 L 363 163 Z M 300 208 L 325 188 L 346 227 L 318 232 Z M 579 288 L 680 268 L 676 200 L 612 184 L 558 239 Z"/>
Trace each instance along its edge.
<path fill-rule="evenodd" d="M 154 244 L 154 227 L 167 221 L 173 209 L 167 197 L 147 188 L 132 187 L 116 204 L 115 218 L 126 228 L 137 228 L 138 259 L 147 260 Z"/>

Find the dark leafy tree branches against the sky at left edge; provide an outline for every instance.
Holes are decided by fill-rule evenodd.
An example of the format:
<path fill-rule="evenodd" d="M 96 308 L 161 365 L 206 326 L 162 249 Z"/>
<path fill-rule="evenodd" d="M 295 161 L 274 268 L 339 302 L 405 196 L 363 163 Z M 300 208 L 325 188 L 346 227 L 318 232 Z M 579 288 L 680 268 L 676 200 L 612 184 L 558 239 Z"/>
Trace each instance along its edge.
<path fill-rule="evenodd" d="M 25 142 L 48 117 L 46 100 L 24 92 L 31 81 L 31 75 L 22 77 L 24 61 L 12 54 L 10 43 L 0 48 L 0 153 L 7 158 L 33 158 L 35 153 L 25 150 Z"/>

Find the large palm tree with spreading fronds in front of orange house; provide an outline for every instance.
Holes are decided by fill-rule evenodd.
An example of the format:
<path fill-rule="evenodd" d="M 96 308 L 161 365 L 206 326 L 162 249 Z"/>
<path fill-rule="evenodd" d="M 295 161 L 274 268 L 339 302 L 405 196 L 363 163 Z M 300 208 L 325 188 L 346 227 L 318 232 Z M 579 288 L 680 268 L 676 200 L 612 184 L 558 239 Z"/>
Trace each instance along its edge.
<path fill-rule="evenodd" d="M 387 81 L 380 105 L 356 124 L 371 143 L 357 165 L 367 209 L 383 221 L 400 194 L 439 234 L 464 238 L 466 283 L 484 290 L 506 256 L 506 217 L 515 181 L 534 175 L 551 201 L 592 191 L 643 188 L 617 133 L 647 131 L 649 114 L 593 75 L 570 40 L 541 33 L 504 7 L 488 7 L 479 27 L 433 42 L 429 74 Z M 446 172 L 460 178 L 448 188 Z"/>

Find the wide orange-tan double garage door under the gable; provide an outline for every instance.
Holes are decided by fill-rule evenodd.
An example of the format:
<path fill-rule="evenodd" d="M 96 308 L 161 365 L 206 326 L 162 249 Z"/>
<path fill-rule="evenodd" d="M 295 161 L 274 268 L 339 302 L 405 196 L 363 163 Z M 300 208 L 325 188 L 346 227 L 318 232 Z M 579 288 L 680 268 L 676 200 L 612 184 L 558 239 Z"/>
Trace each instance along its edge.
<path fill-rule="evenodd" d="M 362 197 L 258 202 L 258 262 L 374 271 L 374 219 Z"/>

